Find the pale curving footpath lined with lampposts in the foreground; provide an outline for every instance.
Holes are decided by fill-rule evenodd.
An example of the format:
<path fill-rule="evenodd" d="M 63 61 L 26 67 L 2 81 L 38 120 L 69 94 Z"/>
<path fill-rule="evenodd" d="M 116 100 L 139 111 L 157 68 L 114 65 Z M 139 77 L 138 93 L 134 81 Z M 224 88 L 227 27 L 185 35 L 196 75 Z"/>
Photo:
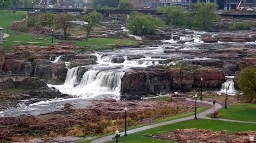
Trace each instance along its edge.
<path fill-rule="evenodd" d="M 194 101 L 195 102 L 195 100 L 192 100 L 190 98 L 186 98 L 186 101 Z M 212 102 L 208 102 L 208 101 L 198 100 L 197 102 L 202 102 L 202 103 L 206 103 L 206 104 L 212 105 Z M 199 118 L 201 118 L 201 119 L 211 119 L 211 118 L 207 118 L 205 116 L 208 115 L 210 112 L 214 112 L 214 111 L 220 109 L 221 107 L 222 106 L 220 104 L 216 103 L 216 107 L 211 107 L 210 109 L 208 109 L 206 111 L 198 113 L 197 114 L 197 118 L 198 119 Z M 174 124 L 174 123 L 178 123 L 178 122 L 182 122 L 182 121 L 187 121 L 187 120 L 191 120 L 191 119 L 194 119 L 194 118 L 195 118 L 195 116 L 193 115 L 193 116 L 189 116 L 189 117 L 185 117 L 185 118 L 180 118 L 180 119 L 176 119 L 176 120 L 172 120 L 172 121 L 166 121 L 166 122 L 157 123 L 157 124 L 153 124 L 153 125 L 147 125 L 147 126 L 143 126 L 143 127 L 140 127 L 140 128 L 129 130 L 129 131 L 127 131 L 127 134 L 132 134 L 132 133 L 144 131 L 144 130 L 147 130 L 147 129 L 152 129 L 152 128 L 156 128 L 156 127 L 160 127 L 160 126 L 164 126 L 164 125 Z M 229 120 L 226 120 L 226 119 L 222 119 L 222 120 L 229 121 Z M 121 132 L 120 134 L 121 134 L 121 136 L 123 136 L 124 132 Z M 95 139 L 95 140 L 91 141 L 91 143 L 103 143 L 103 142 L 106 142 L 106 141 L 111 141 L 111 138 L 113 136 L 115 136 L 115 135 L 109 135 L 109 136 L 101 137 L 101 138 L 98 138 L 98 139 Z"/>

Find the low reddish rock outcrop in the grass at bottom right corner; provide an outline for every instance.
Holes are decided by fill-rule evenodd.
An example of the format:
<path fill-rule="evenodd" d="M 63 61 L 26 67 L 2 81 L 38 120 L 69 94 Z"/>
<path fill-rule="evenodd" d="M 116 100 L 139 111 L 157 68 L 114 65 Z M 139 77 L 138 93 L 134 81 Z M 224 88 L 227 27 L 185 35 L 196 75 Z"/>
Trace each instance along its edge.
<path fill-rule="evenodd" d="M 201 129 L 184 129 L 175 130 L 171 133 L 162 133 L 159 138 L 165 140 L 173 140 L 181 143 L 186 142 L 219 142 L 219 143 L 250 143 L 249 136 L 256 138 L 255 131 L 234 132 L 233 135 L 228 135 L 226 130 L 212 132 L 211 130 Z M 228 141 L 227 141 L 228 140 Z"/>

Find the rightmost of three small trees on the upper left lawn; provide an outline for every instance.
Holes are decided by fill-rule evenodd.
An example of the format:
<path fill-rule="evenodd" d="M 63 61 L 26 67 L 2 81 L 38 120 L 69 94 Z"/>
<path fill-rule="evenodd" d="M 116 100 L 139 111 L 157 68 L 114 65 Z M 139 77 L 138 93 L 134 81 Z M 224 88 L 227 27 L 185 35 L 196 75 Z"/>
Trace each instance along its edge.
<path fill-rule="evenodd" d="M 84 15 L 82 18 L 84 21 L 88 22 L 87 25 L 83 25 L 84 29 L 87 32 L 86 41 L 88 41 L 88 36 L 93 30 L 94 26 L 99 23 L 99 20 L 101 19 L 101 14 L 94 10 L 90 15 Z"/>

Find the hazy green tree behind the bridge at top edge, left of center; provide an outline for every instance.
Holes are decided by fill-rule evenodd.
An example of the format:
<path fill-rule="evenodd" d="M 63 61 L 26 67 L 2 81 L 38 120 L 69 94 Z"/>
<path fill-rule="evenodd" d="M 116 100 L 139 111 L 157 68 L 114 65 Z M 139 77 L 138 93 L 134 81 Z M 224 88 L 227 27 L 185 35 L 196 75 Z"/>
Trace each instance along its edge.
<path fill-rule="evenodd" d="M 94 9 L 101 9 L 101 7 L 108 6 L 116 8 L 119 4 L 119 0 L 93 0 L 92 6 Z"/>

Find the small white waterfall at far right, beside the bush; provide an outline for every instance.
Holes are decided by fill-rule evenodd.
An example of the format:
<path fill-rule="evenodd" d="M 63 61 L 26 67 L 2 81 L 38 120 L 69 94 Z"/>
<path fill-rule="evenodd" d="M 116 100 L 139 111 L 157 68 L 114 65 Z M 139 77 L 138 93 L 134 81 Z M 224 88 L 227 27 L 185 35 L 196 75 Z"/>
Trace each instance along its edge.
<path fill-rule="evenodd" d="M 219 95 L 225 94 L 226 88 L 227 88 L 227 95 L 236 95 L 237 94 L 236 89 L 234 89 L 234 82 L 232 79 L 226 79 L 226 81 L 222 84 L 221 91 L 219 91 L 217 93 Z"/>

